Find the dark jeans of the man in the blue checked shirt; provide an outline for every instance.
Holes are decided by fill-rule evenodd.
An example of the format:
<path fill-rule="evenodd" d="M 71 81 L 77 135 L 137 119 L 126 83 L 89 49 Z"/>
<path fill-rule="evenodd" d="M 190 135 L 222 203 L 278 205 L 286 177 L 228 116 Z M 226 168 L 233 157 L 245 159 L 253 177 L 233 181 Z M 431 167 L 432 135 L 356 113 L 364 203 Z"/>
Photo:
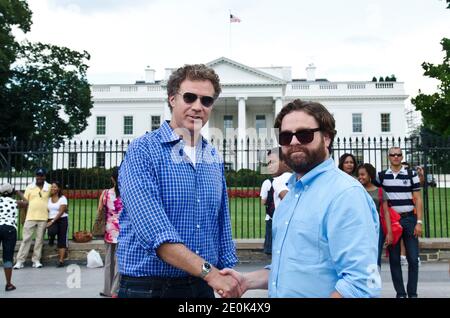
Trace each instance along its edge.
<path fill-rule="evenodd" d="M 163 278 L 121 276 L 119 298 L 215 298 L 198 277 Z"/>

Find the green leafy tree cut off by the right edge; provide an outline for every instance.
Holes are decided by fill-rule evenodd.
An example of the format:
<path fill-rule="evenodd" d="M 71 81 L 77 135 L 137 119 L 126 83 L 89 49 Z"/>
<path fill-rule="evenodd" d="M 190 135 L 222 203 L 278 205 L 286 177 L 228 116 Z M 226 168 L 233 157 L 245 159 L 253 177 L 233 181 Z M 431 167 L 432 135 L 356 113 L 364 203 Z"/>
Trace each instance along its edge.
<path fill-rule="evenodd" d="M 422 63 L 424 75 L 440 81 L 438 91 L 432 95 L 422 94 L 411 100 L 416 110 L 422 112 L 425 128 L 443 136 L 450 136 L 450 39 L 441 41 L 445 52 L 442 64 Z"/>

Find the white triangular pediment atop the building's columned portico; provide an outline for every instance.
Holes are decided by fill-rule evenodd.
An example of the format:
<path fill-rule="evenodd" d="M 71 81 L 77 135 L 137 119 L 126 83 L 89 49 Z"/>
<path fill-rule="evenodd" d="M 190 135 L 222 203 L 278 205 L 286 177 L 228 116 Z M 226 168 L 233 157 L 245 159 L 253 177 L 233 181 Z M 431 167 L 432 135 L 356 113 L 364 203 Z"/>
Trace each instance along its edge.
<path fill-rule="evenodd" d="M 265 73 L 256 68 L 235 62 L 226 57 L 207 63 L 220 77 L 223 86 L 234 85 L 284 85 L 282 78 Z"/>

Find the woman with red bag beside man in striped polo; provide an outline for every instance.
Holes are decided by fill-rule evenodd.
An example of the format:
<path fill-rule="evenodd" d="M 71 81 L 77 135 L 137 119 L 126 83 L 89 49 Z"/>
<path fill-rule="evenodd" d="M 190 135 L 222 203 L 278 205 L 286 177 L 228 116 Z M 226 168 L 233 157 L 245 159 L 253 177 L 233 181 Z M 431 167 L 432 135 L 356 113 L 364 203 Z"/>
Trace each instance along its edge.
<path fill-rule="evenodd" d="M 381 267 L 381 253 L 383 251 L 383 245 L 389 246 L 393 242 L 393 234 L 391 227 L 391 219 L 389 214 L 389 207 L 387 205 L 387 194 L 383 188 L 378 188 L 373 184 L 376 178 L 376 169 L 370 163 L 364 163 L 358 166 L 357 175 L 359 182 L 363 185 L 369 195 L 372 197 L 377 207 L 378 214 L 380 215 L 380 235 L 378 240 L 378 266 Z M 381 195 L 380 195 L 381 194 Z M 381 211 L 384 213 L 383 219 L 386 220 L 386 229 L 382 226 Z"/>

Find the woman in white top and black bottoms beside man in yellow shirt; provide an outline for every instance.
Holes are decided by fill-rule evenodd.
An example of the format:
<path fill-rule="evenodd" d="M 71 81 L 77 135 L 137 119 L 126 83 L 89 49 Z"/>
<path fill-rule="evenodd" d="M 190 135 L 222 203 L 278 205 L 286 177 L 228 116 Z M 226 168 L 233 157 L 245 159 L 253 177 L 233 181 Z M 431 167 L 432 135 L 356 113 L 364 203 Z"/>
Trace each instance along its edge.
<path fill-rule="evenodd" d="M 67 230 L 69 218 L 67 214 L 67 198 L 62 193 L 61 183 L 53 181 L 48 198 L 48 222 L 47 233 L 49 244 L 53 245 L 55 237 L 58 238 L 58 264 L 56 267 L 64 267 L 64 256 L 68 246 Z"/>

